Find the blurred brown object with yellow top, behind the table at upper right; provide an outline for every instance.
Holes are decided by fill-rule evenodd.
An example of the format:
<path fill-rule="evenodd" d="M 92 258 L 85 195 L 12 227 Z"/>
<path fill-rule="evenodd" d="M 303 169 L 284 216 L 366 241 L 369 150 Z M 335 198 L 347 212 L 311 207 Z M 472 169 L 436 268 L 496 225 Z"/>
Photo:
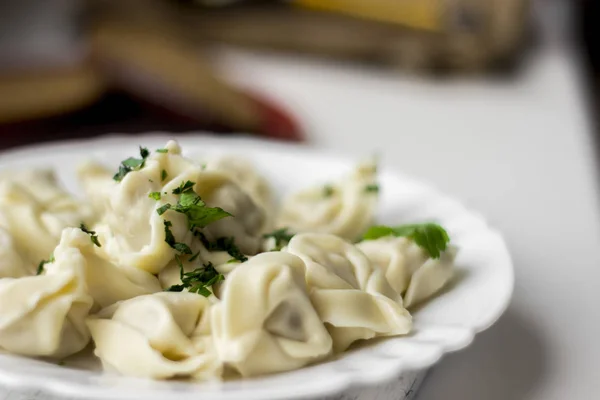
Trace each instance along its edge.
<path fill-rule="evenodd" d="M 202 41 L 366 61 L 418 72 L 514 66 L 529 31 L 526 0 L 183 1 Z M 220 4 L 220 2 L 216 2 Z M 293 6 L 290 6 L 291 3 Z M 196 7 L 193 7 L 196 6 Z"/>

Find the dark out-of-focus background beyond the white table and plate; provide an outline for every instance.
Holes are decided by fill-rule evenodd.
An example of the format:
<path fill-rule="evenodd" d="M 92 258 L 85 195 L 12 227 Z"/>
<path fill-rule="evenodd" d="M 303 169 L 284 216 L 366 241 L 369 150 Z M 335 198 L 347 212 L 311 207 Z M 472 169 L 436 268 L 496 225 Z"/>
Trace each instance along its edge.
<path fill-rule="evenodd" d="M 593 0 L 2 1 L 1 146 L 152 130 L 310 137 L 310 113 L 246 73 L 256 57 L 508 87 L 540 48 L 569 46 L 595 111 L 598 15 Z"/>

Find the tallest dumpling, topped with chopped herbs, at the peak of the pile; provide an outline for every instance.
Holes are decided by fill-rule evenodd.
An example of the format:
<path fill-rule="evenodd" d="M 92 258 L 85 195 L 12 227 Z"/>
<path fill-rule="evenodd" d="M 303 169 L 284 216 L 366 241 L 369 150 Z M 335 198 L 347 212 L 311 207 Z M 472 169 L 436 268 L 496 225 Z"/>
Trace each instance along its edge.
<path fill-rule="evenodd" d="M 126 174 L 120 182 L 112 177 L 103 178 L 102 185 L 106 187 L 98 197 L 106 197 L 99 201 L 102 206 L 97 207 L 104 209 L 104 217 L 94 229 L 105 253 L 119 266 L 158 273 L 173 260 L 175 251 L 165 241 L 165 221 L 171 223 L 169 230 L 177 242 L 189 245 L 192 240 L 185 215 L 175 212 L 159 215 L 157 209 L 166 203 L 175 204 L 173 189 L 181 182 L 194 181 L 200 167 L 183 159 L 175 142 L 169 142 L 166 150 L 153 153 L 143 168 Z M 93 174 L 80 176 L 83 182 L 89 179 L 94 182 L 100 178 Z M 83 184 L 86 185 L 89 183 Z M 153 192 L 161 193 L 160 200 L 149 197 Z"/>

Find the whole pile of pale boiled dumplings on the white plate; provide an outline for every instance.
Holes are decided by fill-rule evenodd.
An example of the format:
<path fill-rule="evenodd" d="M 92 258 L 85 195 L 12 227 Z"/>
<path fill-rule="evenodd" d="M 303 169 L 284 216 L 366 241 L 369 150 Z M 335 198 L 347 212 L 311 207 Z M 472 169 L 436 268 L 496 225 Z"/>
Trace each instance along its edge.
<path fill-rule="evenodd" d="M 359 241 L 377 207 L 373 163 L 281 205 L 248 161 L 203 164 L 175 141 L 120 180 L 116 167 L 82 165 L 83 200 L 51 171 L 0 172 L 0 349 L 60 361 L 90 346 L 106 370 L 153 379 L 289 371 L 408 334 L 408 309 L 452 276 L 452 246 L 432 259 L 405 237 Z M 194 231 L 164 211 L 188 181 L 230 216 Z M 223 238 L 241 256 L 207 246 Z M 170 290 L 207 265 L 223 278 L 208 295 Z"/>

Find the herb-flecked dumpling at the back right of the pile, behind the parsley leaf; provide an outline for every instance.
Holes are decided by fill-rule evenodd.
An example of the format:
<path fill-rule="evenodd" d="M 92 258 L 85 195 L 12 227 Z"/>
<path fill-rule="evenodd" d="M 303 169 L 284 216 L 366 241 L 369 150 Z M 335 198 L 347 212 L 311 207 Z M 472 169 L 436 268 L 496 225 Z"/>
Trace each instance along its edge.
<path fill-rule="evenodd" d="M 376 180 L 376 165 L 366 163 L 339 184 L 295 193 L 284 200 L 276 225 L 293 232 L 330 233 L 354 241 L 373 222 Z"/>

